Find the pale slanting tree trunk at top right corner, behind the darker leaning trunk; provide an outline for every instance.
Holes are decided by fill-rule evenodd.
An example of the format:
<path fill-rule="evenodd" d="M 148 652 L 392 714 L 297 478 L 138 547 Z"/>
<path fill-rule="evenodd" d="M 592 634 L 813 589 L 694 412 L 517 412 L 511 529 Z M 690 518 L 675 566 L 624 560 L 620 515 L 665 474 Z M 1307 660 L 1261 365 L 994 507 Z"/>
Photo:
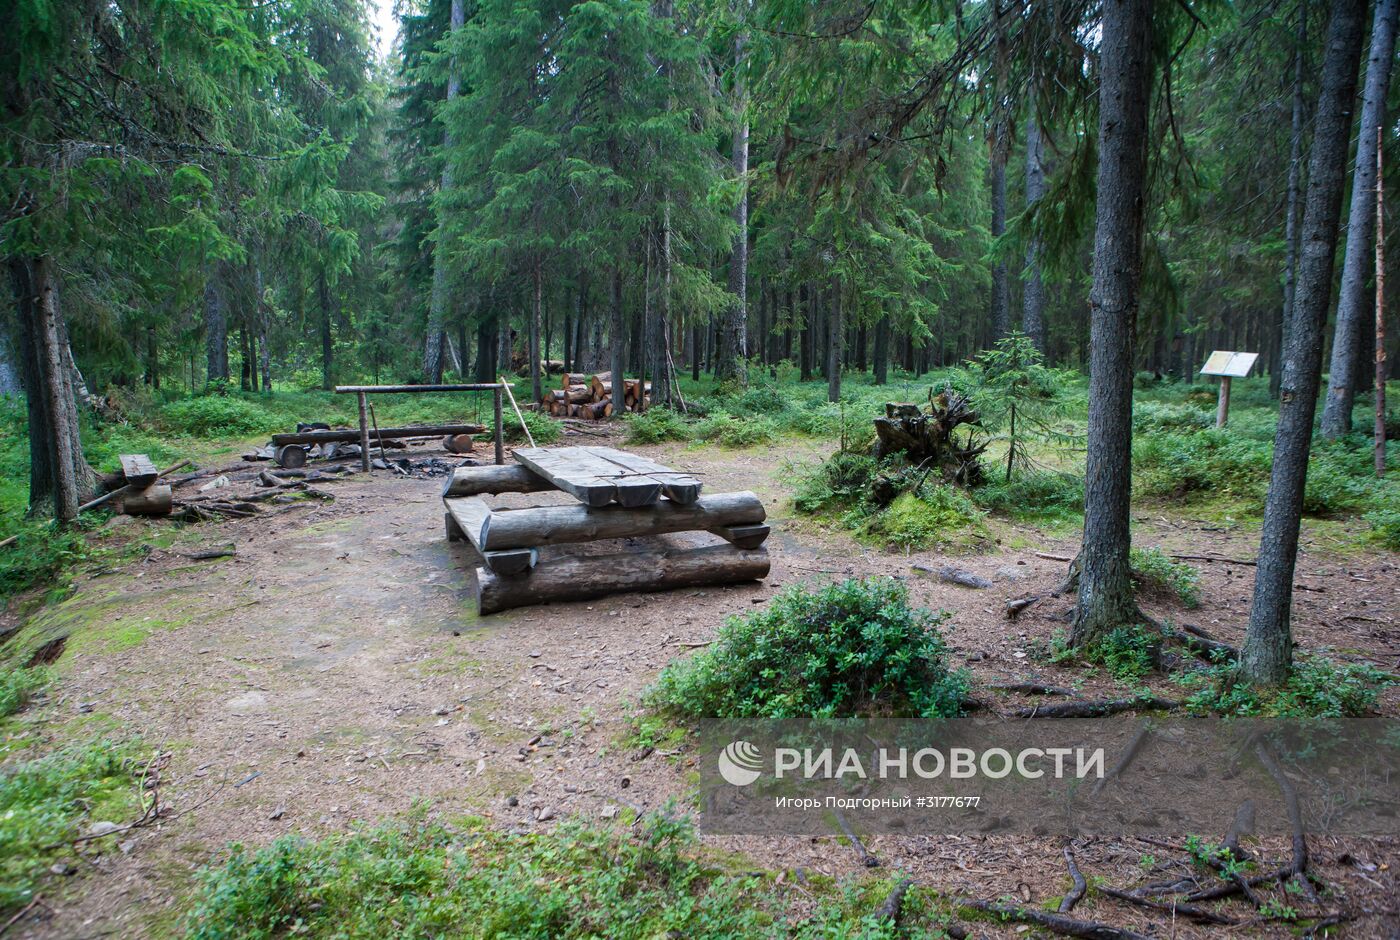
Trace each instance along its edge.
<path fill-rule="evenodd" d="M 1331 368 L 1327 375 L 1327 403 L 1322 412 L 1322 433 L 1336 438 L 1351 430 L 1351 408 L 1362 384 L 1357 349 L 1371 332 L 1372 294 L 1368 268 L 1376 234 L 1376 129 L 1386 115 L 1390 64 L 1394 62 L 1396 17 L 1400 0 L 1376 0 L 1371 27 L 1371 59 L 1361 105 L 1361 133 L 1357 170 L 1351 175 L 1351 214 L 1347 216 L 1347 259 L 1341 266 L 1341 294 L 1337 298 L 1337 332 L 1331 339 Z M 1322 115 L 1317 116 L 1322 120 Z M 1350 127 L 1348 127 L 1350 130 Z M 1316 140 L 1316 132 L 1313 133 Z M 1309 188 L 1310 188 L 1309 179 Z"/>

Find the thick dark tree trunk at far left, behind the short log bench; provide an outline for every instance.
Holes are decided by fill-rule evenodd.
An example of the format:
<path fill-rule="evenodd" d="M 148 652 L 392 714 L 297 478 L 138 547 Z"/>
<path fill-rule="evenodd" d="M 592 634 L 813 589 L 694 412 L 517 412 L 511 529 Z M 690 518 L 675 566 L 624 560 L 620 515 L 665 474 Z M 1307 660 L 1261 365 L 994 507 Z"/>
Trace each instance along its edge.
<path fill-rule="evenodd" d="M 10 259 L 20 315 L 20 368 L 29 416 L 29 511 L 52 510 L 60 523 L 78 516 L 94 474 L 78 437 L 76 374 L 66 353 L 67 328 L 53 261 Z"/>

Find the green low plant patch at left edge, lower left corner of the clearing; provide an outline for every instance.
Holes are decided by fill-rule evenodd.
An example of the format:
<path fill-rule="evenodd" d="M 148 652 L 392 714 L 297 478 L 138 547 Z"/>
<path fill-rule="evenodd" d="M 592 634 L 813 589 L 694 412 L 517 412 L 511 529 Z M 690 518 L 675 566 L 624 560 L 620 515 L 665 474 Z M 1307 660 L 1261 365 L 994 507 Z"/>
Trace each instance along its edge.
<path fill-rule="evenodd" d="M 0 911 L 34 892 L 56 853 L 85 824 L 140 814 L 134 744 L 92 741 L 0 768 Z"/>

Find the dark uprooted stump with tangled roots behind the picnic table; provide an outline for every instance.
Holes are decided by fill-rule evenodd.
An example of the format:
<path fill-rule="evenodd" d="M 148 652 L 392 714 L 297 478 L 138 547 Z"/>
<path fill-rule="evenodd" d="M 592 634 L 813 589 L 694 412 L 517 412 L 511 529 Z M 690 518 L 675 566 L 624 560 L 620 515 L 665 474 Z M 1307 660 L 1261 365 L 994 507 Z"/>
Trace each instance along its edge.
<path fill-rule="evenodd" d="M 979 459 L 987 441 L 969 433 L 958 440 L 963 424 L 977 426 L 980 417 L 962 392 L 930 394 L 928 405 L 885 402 L 885 416 L 875 419 L 875 457 L 904 455 L 914 466 L 942 474 L 946 483 L 976 486 L 981 482 Z"/>

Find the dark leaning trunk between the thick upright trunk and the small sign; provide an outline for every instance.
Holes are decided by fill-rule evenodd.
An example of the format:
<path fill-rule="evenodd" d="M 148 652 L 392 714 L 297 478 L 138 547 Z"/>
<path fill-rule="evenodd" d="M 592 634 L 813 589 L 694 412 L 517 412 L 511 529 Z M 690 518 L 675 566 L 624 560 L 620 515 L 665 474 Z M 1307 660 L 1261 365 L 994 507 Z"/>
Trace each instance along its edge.
<path fill-rule="evenodd" d="M 1294 566 L 1298 562 L 1298 525 L 1302 518 L 1303 485 L 1308 481 L 1308 448 L 1312 445 L 1317 388 L 1322 384 L 1322 343 L 1331 301 L 1337 221 L 1347 182 L 1351 102 L 1357 92 L 1365 15 L 1365 0 L 1333 0 L 1317 120 L 1308 163 L 1308 200 L 1303 207 L 1294 318 L 1284 350 L 1274 466 L 1264 502 L 1254 600 L 1240 651 L 1245 678 L 1261 685 L 1282 682 L 1292 664 L 1289 616 Z"/>

